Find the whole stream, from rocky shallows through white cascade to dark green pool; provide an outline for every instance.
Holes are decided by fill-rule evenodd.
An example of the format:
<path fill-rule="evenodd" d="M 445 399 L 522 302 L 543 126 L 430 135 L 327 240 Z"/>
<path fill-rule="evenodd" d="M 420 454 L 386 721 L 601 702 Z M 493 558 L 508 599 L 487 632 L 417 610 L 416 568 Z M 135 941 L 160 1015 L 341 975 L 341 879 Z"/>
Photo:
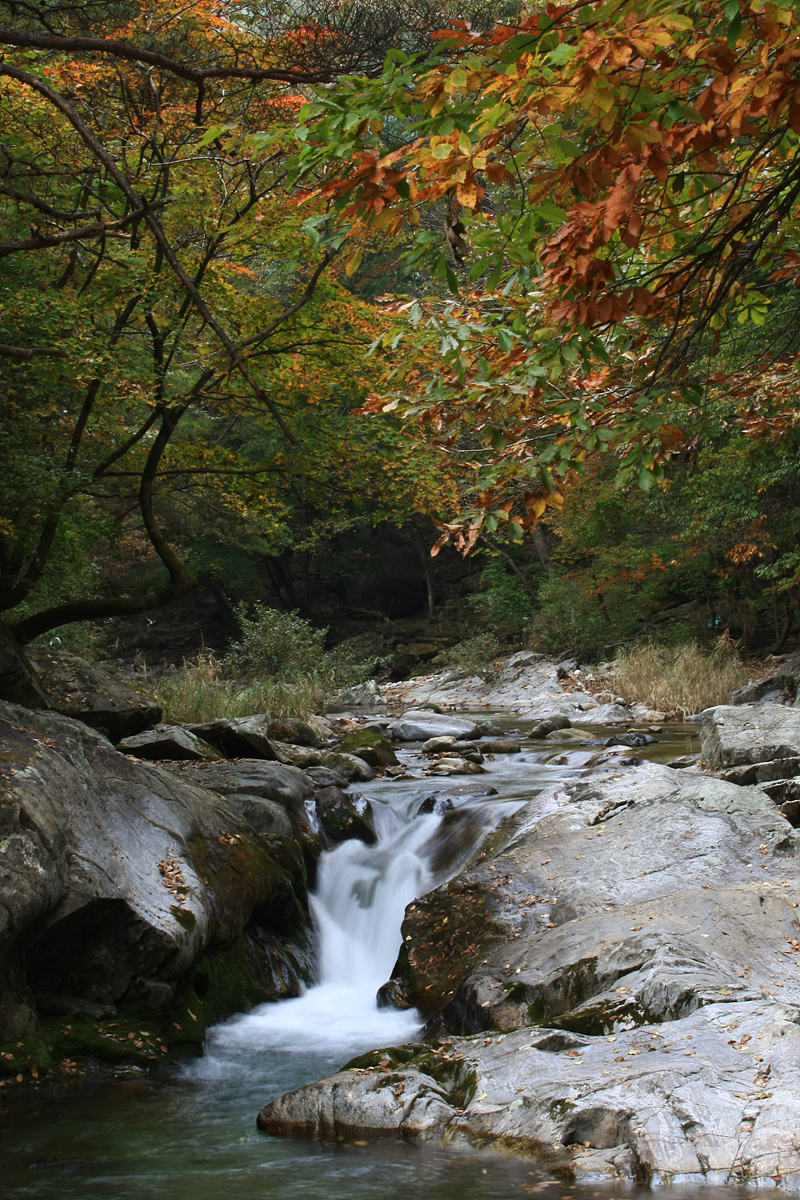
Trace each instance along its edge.
<path fill-rule="evenodd" d="M 513 725 L 507 714 L 493 719 Z M 591 737 L 610 732 L 593 730 Z M 697 750 L 694 733 L 693 726 L 664 726 L 654 745 L 631 754 L 668 761 Z M 414 1012 L 375 1006 L 399 949 L 405 906 L 457 874 L 486 834 L 541 788 L 589 774 L 599 748 L 523 740 L 521 754 L 487 763 L 488 775 L 362 785 L 378 842 L 345 841 L 320 862 L 312 900 L 319 983 L 295 1000 L 216 1026 L 204 1057 L 179 1069 L 7 1105 L 0 1116 L 4 1200 L 505 1200 L 521 1193 L 612 1200 L 644 1190 L 620 1183 L 577 1188 L 533 1159 L 498 1152 L 389 1139 L 318 1145 L 255 1130 L 255 1115 L 273 1097 L 331 1074 L 356 1054 L 417 1037 Z M 419 751 L 399 756 L 420 775 Z M 497 794 L 476 796 L 486 784 Z M 415 815 L 433 791 L 451 796 L 455 809 Z M 700 1193 L 684 1188 L 681 1196 L 687 1190 Z"/>

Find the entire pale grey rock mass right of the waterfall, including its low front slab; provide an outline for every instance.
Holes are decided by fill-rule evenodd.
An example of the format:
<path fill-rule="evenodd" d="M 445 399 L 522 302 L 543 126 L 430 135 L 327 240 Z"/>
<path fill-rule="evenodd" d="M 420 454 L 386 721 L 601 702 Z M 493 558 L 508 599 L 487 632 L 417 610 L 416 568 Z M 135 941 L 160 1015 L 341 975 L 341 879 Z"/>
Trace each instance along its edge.
<path fill-rule="evenodd" d="M 260 1127 L 800 1187 L 798 834 L 758 788 L 655 763 L 560 782 L 515 823 L 407 910 L 381 994 L 438 1048 L 363 1056 Z"/>

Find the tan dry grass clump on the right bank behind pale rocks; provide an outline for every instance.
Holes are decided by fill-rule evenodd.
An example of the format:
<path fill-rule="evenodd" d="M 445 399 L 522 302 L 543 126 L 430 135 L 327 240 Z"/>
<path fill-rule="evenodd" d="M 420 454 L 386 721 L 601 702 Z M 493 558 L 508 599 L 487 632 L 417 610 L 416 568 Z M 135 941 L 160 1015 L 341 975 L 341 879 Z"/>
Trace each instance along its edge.
<path fill-rule="evenodd" d="M 620 650 L 612 684 L 628 703 L 687 716 L 712 704 L 727 704 L 748 672 L 735 642 L 726 634 L 708 650 L 697 642 L 660 646 L 648 642 Z"/>

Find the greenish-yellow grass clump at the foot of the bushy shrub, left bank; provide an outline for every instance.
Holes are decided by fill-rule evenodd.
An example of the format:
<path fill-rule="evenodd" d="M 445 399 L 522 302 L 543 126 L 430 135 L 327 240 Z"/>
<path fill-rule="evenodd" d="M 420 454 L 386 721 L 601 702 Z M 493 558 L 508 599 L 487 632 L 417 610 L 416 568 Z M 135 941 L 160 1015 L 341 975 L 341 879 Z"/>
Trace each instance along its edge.
<path fill-rule="evenodd" d="M 161 704 L 164 721 L 193 725 L 223 716 L 309 716 L 325 708 L 336 691 L 327 674 L 297 673 L 294 678 L 264 678 L 248 683 L 230 678 L 210 652 L 185 661 L 173 676 L 148 689 Z"/>

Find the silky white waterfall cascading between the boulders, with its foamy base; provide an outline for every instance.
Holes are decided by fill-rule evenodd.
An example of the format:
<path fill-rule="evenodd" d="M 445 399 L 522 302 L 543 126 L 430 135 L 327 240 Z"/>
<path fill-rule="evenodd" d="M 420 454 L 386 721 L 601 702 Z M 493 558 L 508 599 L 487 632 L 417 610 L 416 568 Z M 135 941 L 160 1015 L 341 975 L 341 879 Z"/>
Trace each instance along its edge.
<path fill-rule="evenodd" d="M 415 815 L 420 799 L 419 785 L 410 792 L 395 785 L 391 803 L 371 796 L 375 845 L 345 841 L 319 863 L 311 900 L 319 983 L 295 1000 L 217 1026 L 192 1074 L 248 1070 L 265 1051 L 321 1054 L 338 1066 L 362 1050 L 417 1036 L 415 1010 L 379 1009 L 375 1000 L 397 959 L 405 906 L 458 870 L 517 806 L 469 798 L 444 815 Z"/>

